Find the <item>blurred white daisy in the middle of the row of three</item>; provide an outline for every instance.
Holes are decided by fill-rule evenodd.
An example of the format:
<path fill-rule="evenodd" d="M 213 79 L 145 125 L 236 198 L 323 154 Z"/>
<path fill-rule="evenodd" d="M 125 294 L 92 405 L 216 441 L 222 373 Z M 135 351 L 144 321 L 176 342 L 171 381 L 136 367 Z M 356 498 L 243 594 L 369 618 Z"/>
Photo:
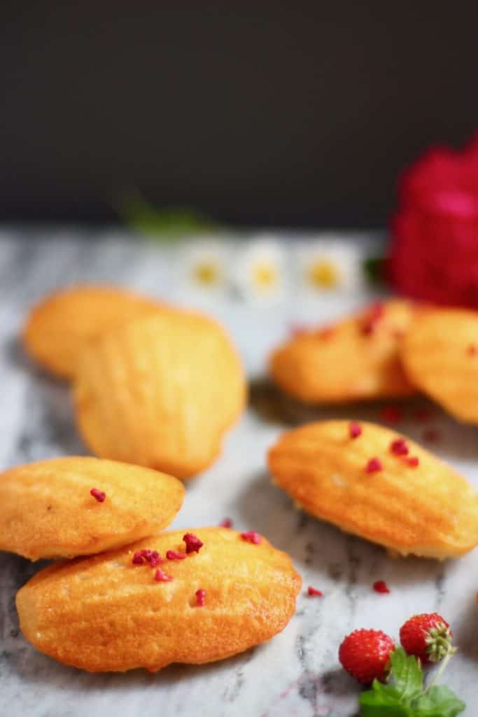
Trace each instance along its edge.
<path fill-rule="evenodd" d="M 284 252 L 279 242 L 262 237 L 240 248 L 233 281 L 246 298 L 278 298 L 285 284 Z"/>

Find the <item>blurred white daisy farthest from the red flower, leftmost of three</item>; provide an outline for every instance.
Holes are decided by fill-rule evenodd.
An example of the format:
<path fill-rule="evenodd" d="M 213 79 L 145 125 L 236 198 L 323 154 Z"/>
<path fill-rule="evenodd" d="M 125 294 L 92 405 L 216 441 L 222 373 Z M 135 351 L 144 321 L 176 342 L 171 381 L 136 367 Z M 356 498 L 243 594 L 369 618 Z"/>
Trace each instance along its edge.
<path fill-rule="evenodd" d="M 215 239 L 196 239 L 183 247 L 178 257 L 181 284 L 204 293 L 224 288 L 227 247 Z"/>

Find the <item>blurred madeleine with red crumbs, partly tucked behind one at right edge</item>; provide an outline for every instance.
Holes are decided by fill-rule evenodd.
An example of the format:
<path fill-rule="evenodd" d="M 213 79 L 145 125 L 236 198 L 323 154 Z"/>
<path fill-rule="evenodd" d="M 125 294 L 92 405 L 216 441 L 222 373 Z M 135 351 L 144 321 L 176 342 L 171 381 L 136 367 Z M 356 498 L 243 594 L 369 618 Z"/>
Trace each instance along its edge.
<path fill-rule="evenodd" d="M 301 332 L 272 354 L 272 379 L 307 403 L 409 396 L 414 389 L 399 346 L 413 310 L 411 303 L 391 300 L 326 328 Z"/>

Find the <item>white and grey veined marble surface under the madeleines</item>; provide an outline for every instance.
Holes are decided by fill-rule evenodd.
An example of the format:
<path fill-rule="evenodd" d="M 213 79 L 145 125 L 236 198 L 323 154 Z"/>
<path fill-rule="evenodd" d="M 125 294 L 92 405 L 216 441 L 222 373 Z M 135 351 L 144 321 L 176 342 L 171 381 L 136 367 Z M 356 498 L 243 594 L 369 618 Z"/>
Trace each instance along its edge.
<path fill-rule="evenodd" d="M 0 465 L 85 452 L 77 436 L 67 388 L 29 364 L 18 335 L 29 305 L 48 290 L 78 280 L 109 281 L 180 303 L 194 303 L 226 323 L 252 376 L 249 409 L 224 444 L 220 459 L 188 483 L 175 527 L 216 524 L 225 516 L 240 529 L 264 533 L 290 553 L 305 587 L 290 625 L 266 645 L 205 667 L 174 665 L 156 675 L 90 675 L 39 654 L 19 632 L 14 596 L 39 568 L 0 555 L 0 714 L 10 717 L 206 715 L 214 717 L 351 717 L 357 713 L 353 680 L 340 670 L 337 650 L 356 627 L 396 635 L 416 612 L 439 610 L 454 626 L 459 653 L 446 682 L 476 714 L 478 701 L 478 551 L 440 564 L 393 560 L 365 541 L 298 513 L 271 484 L 264 455 L 286 427 L 316 417 L 380 419 L 379 405 L 310 411 L 279 397 L 261 378 L 267 351 L 293 322 L 327 319 L 363 302 L 364 295 L 320 300 L 283 298 L 254 305 L 236 298 L 194 295 L 175 280 L 176 250 L 120 234 L 81 242 L 68 231 L 0 234 Z M 434 450 L 478 485 L 478 428 L 459 425 L 434 409 L 431 424 L 403 404 L 400 429 L 420 439 L 440 432 Z M 372 583 L 385 579 L 390 595 Z"/>

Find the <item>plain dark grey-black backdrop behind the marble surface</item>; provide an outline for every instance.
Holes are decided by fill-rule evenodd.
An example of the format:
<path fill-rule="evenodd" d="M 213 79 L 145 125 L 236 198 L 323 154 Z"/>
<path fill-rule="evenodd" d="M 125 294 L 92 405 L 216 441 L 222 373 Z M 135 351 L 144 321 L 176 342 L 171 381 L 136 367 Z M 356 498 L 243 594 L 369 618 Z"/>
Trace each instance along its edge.
<path fill-rule="evenodd" d="M 0 219 L 373 227 L 478 128 L 478 3 L 4 0 Z"/>

